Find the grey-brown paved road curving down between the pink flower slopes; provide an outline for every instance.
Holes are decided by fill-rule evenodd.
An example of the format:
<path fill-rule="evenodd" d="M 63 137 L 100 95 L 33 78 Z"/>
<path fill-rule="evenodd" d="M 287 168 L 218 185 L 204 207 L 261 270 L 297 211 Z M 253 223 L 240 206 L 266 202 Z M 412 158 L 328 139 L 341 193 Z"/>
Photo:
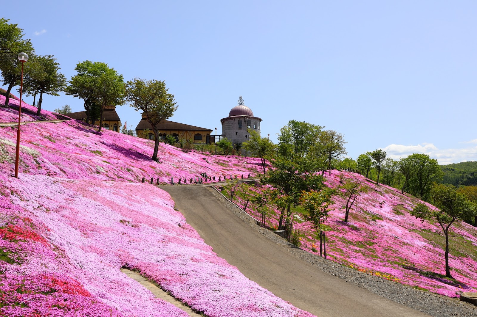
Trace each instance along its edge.
<path fill-rule="evenodd" d="M 219 257 L 295 307 L 321 316 L 428 316 L 320 271 L 240 220 L 206 187 L 161 186 Z"/>

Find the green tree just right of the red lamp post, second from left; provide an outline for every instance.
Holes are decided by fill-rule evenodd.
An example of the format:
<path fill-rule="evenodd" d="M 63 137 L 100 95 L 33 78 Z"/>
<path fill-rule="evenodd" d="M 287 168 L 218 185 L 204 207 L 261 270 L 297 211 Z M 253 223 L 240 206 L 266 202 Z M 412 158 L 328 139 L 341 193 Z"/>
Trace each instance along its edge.
<path fill-rule="evenodd" d="M 53 55 L 34 56 L 28 60 L 23 80 L 23 89 L 26 96 L 40 93 L 38 99 L 37 116 L 41 114 L 43 94 L 60 96 L 66 85 L 66 78 L 59 72 L 60 64 Z M 34 104 L 34 101 L 33 101 Z"/>

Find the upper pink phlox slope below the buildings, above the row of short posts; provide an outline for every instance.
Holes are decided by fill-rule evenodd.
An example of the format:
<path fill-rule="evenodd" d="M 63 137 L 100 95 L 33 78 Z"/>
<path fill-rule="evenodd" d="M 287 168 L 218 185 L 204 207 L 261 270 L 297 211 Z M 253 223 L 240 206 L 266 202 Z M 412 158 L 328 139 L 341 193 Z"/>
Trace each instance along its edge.
<path fill-rule="evenodd" d="M 3 101 L 2 101 L 3 100 Z M 10 106 L 18 101 L 14 99 Z M 0 95 L 0 104 L 5 97 Z M 35 121 L 34 107 L 22 102 L 21 121 Z M 64 119 L 50 111 L 42 111 L 44 119 Z M 16 116 L 16 117 L 15 117 Z M 18 120 L 16 109 L 2 109 L 0 122 Z M 184 153 L 181 149 L 159 144 L 159 162 L 151 161 L 154 141 L 135 138 L 103 129 L 101 135 L 97 127 L 78 120 L 60 123 L 29 123 L 21 126 L 20 171 L 27 174 L 57 176 L 72 179 L 102 179 L 119 181 L 147 181 L 157 178 L 161 183 L 169 183 L 171 178 L 201 178 L 201 173 L 218 177 L 231 175 L 247 178 L 260 170 L 259 158 L 236 156 L 211 156 L 195 150 Z M 0 129 L 1 168 L 10 170 L 15 161 L 16 127 Z M 207 161 L 209 163 L 207 163 Z"/>

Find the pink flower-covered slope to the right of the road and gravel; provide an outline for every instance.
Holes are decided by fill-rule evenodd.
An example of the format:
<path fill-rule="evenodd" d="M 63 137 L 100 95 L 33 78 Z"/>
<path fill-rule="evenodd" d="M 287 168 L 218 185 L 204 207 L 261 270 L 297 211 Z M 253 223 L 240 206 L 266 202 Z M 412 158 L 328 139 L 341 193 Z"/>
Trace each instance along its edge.
<path fill-rule="evenodd" d="M 344 222 L 343 197 L 334 196 L 332 211 L 325 223 L 328 259 L 362 272 L 380 276 L 440 295 L 457 297 L 460 292 L 477 290 L 477 228 L 467 223 L 455 223 L 450 229 L 449 264 L 455 280 L 445 277 L 445 238 L 439 224 L 416 219 L 409 211 L 421 200 L 401 195 L 395 188 L 375 183 L 355 173 L 333 170 L 325 173 L 325 184 L 336 188 L 340 175 L 358 178 L 370 187 L 367 194 L 356 198 L 348 223 Z M 239 185 L 240 186 L 240 185 Z M 247 196 L 267 187 L 259 184 L 249 188 L 251 194 L 241 195 L 237 187 L 235 201 L 243 206 Z M 227 193 L 226 193 L 227 196 Z M 429 205 L 430 206 L 430 205 Z M 435 207 L 431 207 L 435 208 Z M 260 219 L 253 204 L 249 214 Z M 304 220 L 304 211 L 296 208 L 294 228 L 302 233 L 301 248 L 319 254 L 319 239 L 311 223 Z M 267 226 L 277 228 L 280 211 L 270 205 Z"/>

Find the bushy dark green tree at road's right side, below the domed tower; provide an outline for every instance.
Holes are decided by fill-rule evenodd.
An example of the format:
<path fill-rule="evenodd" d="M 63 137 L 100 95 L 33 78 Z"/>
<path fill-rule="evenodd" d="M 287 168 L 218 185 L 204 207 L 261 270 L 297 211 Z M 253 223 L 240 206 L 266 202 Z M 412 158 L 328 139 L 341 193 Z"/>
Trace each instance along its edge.
<path fill-rule="evenodd" d="M 279 220 L 279 230 L 282 228 L 284 216 L 291 215 L 291 205 L 298 204 L 302 191 L 319 190 L 322 187 L 322 177 L 313 173 L 314 166 L 306 158 L 290 160 L 277 156 L 270 160 L 273 168 L 268 171 L 268 176 L 263 178 L 266 184 L 276 189 L 275 197 L 285 202 Z M 287 209 L 284 215 L 285 207 Z"/>

